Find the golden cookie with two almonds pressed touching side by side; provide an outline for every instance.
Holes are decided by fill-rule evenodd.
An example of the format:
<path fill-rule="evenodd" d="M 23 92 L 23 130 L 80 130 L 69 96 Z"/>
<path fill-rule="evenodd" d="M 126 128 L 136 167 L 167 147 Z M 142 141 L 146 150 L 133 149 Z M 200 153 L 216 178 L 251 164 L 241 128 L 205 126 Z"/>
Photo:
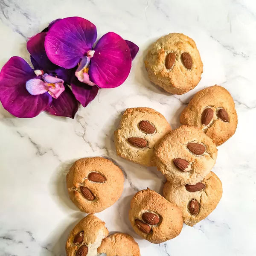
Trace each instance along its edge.
<path fill-rule="evenodd" d="M 150 189 L 134 195 L 129 219 L 135 232 L 154 244 L 175 238 L 183 225 L 180 209 Z"/>

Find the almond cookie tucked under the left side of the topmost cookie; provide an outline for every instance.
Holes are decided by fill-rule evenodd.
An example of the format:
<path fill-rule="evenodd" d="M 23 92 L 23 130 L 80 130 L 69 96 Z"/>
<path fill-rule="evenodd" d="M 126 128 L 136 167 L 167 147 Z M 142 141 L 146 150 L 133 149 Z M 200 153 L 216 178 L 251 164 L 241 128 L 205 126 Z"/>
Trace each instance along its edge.
<path fill-rule="evenodd" d="M 115 131 L 116 153 L 134 163 L 155 166 L 155 147 L 172 130 L 165 117 L 152 108 L 128 108 Z"/>

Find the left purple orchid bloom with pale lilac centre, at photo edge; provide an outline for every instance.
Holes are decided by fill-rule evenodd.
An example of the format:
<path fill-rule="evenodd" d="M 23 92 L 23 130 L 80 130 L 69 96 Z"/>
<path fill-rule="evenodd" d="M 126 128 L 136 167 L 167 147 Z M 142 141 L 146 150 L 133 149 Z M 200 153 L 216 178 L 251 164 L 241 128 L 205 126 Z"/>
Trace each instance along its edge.
<path fill-rule="evenodd" d="M 17 117 L 34 117 L 47 111 L 52 115 L 74 118 L 78 102 L 67 86 L 73 70 L 65 70 L 49 60 L 44 49 L 45 36 L 45 32 L 38 33 L 27 42 L 35 70 L 20 57 L 10 58 L 3 66 L 0 72 L 0 101 L 7 111 Z M 95 97 L 98 88 L 91 90 L 90 87 L 88 92 L 93 92 Z M 89 99 L 92 100 L 93 96 Z"/>

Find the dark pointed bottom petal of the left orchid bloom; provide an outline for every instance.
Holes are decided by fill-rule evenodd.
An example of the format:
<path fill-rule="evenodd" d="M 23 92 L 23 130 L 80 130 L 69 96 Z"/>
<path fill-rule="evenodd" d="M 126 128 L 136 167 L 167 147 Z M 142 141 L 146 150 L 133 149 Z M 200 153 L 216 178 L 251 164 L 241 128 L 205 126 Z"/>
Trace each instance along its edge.
<path fill-rule="evenodd" d="M 46 111 L 55 116 L 67 116 L 74 118 L 78 110 L 78 102 L 69 87 L 65 90 L 58 99 L 52 99 L 52 104 Z"/>

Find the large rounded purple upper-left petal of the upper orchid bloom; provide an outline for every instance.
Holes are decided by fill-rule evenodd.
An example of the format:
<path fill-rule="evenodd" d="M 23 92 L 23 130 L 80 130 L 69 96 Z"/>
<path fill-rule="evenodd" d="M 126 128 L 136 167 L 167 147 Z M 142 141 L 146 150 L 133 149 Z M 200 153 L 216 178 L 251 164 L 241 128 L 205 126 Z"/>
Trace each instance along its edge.
<path fill-rule="evenodd" d="M 75 67 L 92 48 L 96 26 L 81 17 L 68 17 L 54 23 L 45 38 L 49 59 L 64 68 Z"/>

